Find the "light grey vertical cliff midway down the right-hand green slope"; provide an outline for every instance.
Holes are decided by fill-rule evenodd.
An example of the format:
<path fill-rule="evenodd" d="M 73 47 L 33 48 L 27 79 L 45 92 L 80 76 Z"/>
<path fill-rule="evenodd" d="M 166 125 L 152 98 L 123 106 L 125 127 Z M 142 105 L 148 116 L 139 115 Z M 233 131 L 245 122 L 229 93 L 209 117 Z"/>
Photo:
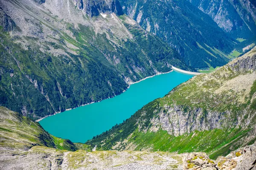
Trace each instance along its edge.
<path fill-rule="evenodd" d="M 233 127 L 241 120 L 241 117 L 238 117 L 239 122 L 230 121 L 232 115 L 230 112 L 207 111 L 207 116 L 205 114 L 202 108 L 191 108 L 186 112 L 179 105 L 172 107 L 166 105 L 158 114 L 157 119 L 151 119 L 150 131 L 155 127 L 158 127 L 157 129 L 161 127 L 171 135 L 180 136 L 195 130 Z"/>

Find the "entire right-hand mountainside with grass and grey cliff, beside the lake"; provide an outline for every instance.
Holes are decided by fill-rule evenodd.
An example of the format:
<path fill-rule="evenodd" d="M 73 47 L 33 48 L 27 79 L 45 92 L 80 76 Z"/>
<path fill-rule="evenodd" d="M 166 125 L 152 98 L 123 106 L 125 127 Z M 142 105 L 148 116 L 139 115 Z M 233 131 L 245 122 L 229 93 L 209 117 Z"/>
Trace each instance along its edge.
<path fill-rule="evenodd" d="M 204 151 L 212 158 L 256 140 L 256 48 L 193 77 L 87 142 L 98 150 Z"/>

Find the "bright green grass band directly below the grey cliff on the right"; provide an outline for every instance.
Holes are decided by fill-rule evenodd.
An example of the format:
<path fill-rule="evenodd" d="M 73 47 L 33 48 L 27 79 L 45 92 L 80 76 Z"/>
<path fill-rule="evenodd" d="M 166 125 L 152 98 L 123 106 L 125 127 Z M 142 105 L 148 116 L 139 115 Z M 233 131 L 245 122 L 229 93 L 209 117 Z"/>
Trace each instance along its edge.
<path fill-rule="evenodd" d="M 230 152 L 230 144 L 234 139 L 244 136 L 250 129 L 242 130 L 241 127 L 229 130 L 205 130 L 195 131 L 181 136 L 172 136 L 165 130 L 154 132 L 135 131 L 129 142 L 137 147 L 135 150 L 146 150 L 167 152 L 206 152 L 211 159 L 216 159 L 220 155 L 227 155 Z M 222 148 L 223 147 L 223 148 Z"/>

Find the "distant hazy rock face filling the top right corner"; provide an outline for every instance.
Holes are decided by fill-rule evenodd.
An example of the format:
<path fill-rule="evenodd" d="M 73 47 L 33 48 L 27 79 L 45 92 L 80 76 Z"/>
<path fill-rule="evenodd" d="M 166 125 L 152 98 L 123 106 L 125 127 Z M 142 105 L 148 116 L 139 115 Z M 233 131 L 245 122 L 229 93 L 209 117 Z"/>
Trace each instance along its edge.
<path fill-rule="evenodd" d="M 248 39 L 256 36 L 256 6 L 253 0 L 189 1 L 233 37 Z"/>

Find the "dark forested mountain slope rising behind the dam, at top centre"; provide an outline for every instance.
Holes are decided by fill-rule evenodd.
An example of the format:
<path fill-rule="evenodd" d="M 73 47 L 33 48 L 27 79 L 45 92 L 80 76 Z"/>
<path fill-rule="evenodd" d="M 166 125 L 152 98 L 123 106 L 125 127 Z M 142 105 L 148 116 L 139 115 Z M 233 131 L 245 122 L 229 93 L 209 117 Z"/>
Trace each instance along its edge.
<path fill-rule="evenodd" d="M 120 0 L 125 14 L 177 49 L 186 65 L 224 65 L 236 40 L 186 0 Z"/>

